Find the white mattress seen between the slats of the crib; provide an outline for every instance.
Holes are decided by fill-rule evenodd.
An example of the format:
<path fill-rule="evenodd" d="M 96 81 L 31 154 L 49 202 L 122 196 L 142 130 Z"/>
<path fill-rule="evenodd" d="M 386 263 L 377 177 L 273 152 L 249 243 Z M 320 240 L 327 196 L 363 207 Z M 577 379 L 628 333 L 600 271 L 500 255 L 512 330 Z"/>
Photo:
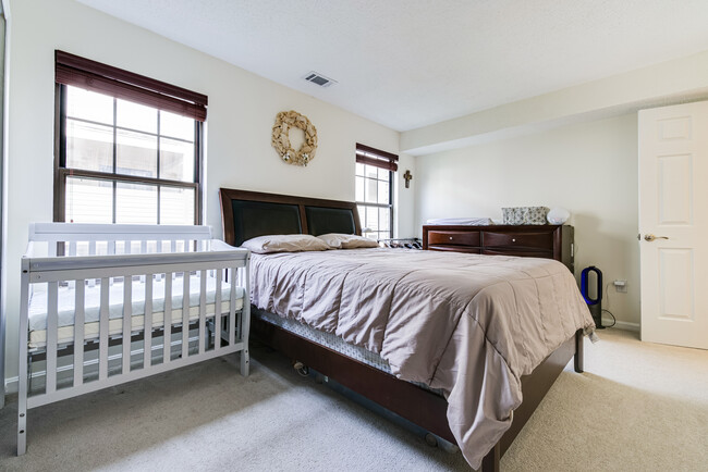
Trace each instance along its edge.
<path fill-rule="evenodd" d="M 164 285 L 166 281 L 152 282 L 152 327 L 164 324 Z M 182 291 L 184 281 L 172 280 L 172 310 L 168 315 L 172 324 L 181 323 L 183 318 Z M 206 312 L 207 318 L 216 312 L 217 281 L 207 277 Z M 230 309 L 231 286 L 221 284 L 221 313 Z M 58 297 L 58 343 L 71 343 L 74 339 L 75 290 L 60 287 Z M 244 289 L 236 287 L 235 310 L 243 308 Z M 200 283 L 196 275 L 190 278 L 190 321 L 199 318 Z M 44 347 L 47 343 L 47 293 L 35 291 L 29 300 L 29 348 Z M 99 335 L 100 285 L 86 286 L 84 298 L 84 339 L 95 339 Z M 132 331 L 142 331 L 145 326 L 145 283 L 133 281 L 132 285 Z M 123 333 L 123 283 L 115 282 L 109 289 L 109 335 Z"/>

